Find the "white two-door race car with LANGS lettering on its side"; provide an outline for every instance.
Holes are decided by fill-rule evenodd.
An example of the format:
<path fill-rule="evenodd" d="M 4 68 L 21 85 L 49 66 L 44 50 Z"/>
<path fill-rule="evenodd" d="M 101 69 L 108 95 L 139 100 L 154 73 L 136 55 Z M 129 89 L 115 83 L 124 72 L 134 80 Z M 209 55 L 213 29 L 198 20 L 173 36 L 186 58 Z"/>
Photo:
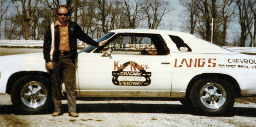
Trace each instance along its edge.
<path fill-rule="evenodd" d="M 112 30 L 98 42 L 104 39 L 104 47 L 78 54 L 77 97 L 177 98 L 192 111 L 220 115 L 232 111 L 236 97 L 256 95 L 253 55 L 175 31 Z M 21 111 L 53 109 L 43 53 L 1 56 L 0 90 Z"/>

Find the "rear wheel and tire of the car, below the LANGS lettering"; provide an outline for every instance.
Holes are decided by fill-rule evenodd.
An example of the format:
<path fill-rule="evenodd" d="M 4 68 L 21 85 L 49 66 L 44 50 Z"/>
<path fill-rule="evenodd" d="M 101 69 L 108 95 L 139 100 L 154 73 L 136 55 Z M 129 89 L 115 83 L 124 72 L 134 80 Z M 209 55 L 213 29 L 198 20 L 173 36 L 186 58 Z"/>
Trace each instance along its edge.
<path fill-rule="evenodd" d="M 230 115 L 235 103 L 235 91 L 226 80 L 201 79 L 192 86 L 189 99 L 194 113 Z"/>

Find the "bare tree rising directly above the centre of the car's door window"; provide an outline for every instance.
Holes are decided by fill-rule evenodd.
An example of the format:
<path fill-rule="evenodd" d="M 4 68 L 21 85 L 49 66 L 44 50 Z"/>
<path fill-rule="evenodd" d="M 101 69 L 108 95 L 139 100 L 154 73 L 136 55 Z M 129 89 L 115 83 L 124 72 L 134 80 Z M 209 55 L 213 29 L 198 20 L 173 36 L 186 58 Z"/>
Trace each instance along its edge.
<path fill-rule="evenodd" d="M 136 28 L 136 23 L 143 20 L 142 0 L 134 0 L 133 4 L 129 0 L 123 0 L 124 15 L 128 19 L 129 28 Z M 134 6 L 135 5 L 135 6 Z"/>

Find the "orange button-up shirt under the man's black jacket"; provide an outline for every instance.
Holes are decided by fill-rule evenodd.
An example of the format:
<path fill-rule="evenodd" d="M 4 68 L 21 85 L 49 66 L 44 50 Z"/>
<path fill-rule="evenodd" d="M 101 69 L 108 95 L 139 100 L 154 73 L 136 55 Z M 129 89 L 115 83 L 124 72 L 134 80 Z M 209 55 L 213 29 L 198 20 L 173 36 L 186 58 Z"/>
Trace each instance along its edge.
<path fill-rule="evenodd" d="M 59 25 L 60 29 L 60 51 L 70 51 L 69 49 L 69 42 L 68 42 L 68 25 L 69 22 L 65 22 L 63 25 L 59 23 L 59 20 L 57 20 L 54 24 L 54 26 Z"/>

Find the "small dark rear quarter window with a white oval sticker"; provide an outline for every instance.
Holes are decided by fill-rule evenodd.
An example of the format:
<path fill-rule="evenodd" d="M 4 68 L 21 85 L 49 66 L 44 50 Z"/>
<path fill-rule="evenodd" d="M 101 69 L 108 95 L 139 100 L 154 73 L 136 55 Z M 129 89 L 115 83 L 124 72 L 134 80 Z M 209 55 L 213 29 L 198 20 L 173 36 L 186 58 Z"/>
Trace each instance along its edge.
<path fill-rule="evenodd" d="M 180 37 L 173 35 L 169 35 L 169 37 L 176 44 L 179 51 L 192 52 L 192 49 Z"/>

